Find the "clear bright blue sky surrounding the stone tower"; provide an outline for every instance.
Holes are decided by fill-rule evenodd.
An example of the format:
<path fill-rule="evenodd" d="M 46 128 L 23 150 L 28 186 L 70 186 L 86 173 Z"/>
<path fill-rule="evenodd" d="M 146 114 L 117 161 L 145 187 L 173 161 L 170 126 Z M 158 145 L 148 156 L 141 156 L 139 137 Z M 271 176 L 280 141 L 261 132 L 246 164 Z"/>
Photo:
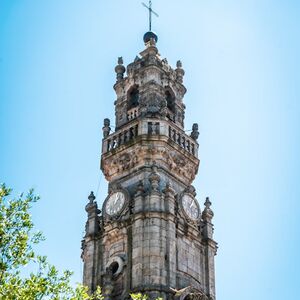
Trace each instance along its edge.
<path fill-rule="evenodd" d="M 107 194 L 101 128 L 114 119 L 117 57 L 144 49 L 140 2 L 0 0 L 0 181 L 41 195 L 39 251 L 74 281 L 87 196 L 99 183 L 100 206 Z M 186 129 L 199 123 L 195 186 L 213 202 L 218 299 L 300 299 L 300 2 L 153 5 L 159 51 L 186 71 Z"/>

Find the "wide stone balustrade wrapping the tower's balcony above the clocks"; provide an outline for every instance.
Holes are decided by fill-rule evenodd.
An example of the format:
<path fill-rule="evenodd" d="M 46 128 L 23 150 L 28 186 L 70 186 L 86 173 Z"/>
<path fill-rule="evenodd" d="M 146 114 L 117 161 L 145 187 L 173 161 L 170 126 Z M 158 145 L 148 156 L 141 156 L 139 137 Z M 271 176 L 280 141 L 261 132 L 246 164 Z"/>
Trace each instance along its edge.
<path fill-rule="evenodd" d="M 170 124 L 169 121 L 148 118 L 133 121 L 128 126 L 110 134 L 103 140 L 102 153 L 110 152 L 127 142 L 133 141 L 140 135 L 166 136 L 180 148 L 198 157 L 198 144 L 184 131 Z"/>

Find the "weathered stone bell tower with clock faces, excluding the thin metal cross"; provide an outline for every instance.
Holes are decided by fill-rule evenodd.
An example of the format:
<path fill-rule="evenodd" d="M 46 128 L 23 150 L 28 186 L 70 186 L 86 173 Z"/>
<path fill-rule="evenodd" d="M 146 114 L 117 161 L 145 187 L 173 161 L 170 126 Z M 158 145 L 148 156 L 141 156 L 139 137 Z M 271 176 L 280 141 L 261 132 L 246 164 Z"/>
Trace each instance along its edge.
<path fill-rule="evenodd" d="M 101 170 L 109 182 L 102 211 L 93 193 L 82 241 L 83 283 L 105 299 L 215 299 L 213 212 L 196 200 L 198 125 L 184 131 L 180 61 L 162 59 L 153 32 L 117 74 L 115 132 L 104 120 Z"/>

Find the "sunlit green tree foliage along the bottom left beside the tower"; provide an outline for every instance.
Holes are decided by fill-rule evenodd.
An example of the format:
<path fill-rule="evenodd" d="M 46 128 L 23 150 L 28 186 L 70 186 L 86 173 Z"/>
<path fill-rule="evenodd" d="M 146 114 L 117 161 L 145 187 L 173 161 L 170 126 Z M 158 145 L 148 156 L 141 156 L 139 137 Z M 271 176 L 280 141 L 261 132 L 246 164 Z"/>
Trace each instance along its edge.
<path fill-rule="evenodd" d="M 34 246 L 44 240 L 34 232 L 30 209 L 39 200 L 33 190 L 11 198 L 11 189 L 0 185 L 0 299 L 1 300 L 103 300 L 101 288 L 93 295 L 87 287 L 70 283 L 72 272 L 60 273 L 45 256 L 37 255 Z M 31 264 L 31 272 L 24 267 Z M 33 267 L 32 267 L 33 266 Z M 133 300 L 147 300 L 132 294 Z"/>

